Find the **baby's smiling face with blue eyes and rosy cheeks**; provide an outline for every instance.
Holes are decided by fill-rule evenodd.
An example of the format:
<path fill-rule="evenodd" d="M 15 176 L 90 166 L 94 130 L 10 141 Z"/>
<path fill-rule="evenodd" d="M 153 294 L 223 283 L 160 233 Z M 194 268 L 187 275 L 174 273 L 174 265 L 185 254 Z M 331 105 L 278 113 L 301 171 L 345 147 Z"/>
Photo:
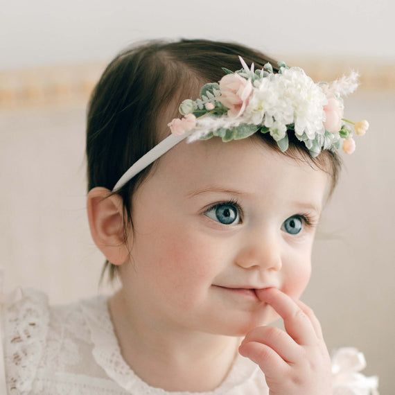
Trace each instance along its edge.
<path fill-rule="evenodd" d="M 161 328 L 243 335 L 310 278 L 328 176 L 258 139 L 179 143 L 132 200 L 125 296 Z"/>

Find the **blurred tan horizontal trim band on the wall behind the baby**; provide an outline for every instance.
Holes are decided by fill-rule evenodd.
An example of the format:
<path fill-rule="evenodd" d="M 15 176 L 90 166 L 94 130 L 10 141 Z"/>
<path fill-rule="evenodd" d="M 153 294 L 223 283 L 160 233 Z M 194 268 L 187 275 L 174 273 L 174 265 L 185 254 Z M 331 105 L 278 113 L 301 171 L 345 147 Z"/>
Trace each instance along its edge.
<path fill-rule="evenodd" d="M 335 80 L 350 69 L 360 72 L 360 91 L 395 91 L 395 61 L 358 58 L 281 57 L 315 81 Z M 105 63 L 0 71 L 0 109 L 86 105 Z"/>

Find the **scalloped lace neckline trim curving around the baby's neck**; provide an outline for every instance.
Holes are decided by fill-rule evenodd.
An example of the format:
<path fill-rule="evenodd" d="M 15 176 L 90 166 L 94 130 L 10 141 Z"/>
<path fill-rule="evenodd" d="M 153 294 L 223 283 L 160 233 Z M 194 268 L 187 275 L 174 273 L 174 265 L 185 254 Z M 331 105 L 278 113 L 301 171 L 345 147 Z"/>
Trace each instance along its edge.
<path fill-rule="evenodd" d="M 93 356 L 107 375 L 128 392 L 146 395 L 198 395 L 198 392 L 166 392 L 161 388 L 150 387 L 125 362 L 119 349 L 107 308 L 107 297 L 96 297 L 81 302 L 82 311 L 91 332 L 91 341 L 94 344 Z M 213 392 L 204 392 L 205 395 L 227 394 L 231 389 L 251 380 L 258 372 L 258 367 L 246 358 L 238 356 L 224 383 Z M 263 376 L 262 376 L 263 378 Z"/>

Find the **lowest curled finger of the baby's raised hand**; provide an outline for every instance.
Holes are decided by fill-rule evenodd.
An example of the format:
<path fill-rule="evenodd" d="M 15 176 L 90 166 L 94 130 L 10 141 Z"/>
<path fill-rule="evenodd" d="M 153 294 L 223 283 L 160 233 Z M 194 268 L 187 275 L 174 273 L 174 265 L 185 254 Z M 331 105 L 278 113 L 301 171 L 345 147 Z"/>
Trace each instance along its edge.
<path fill-rule="evenodd" d="M 270 346 L 257 342 L 247 342 L 241 344 L 239 353 L 243 357 L 247 357 L 258 365 L 267 378 L 279 377 L 286 374 L 288 364 L 272 350 Z"/>

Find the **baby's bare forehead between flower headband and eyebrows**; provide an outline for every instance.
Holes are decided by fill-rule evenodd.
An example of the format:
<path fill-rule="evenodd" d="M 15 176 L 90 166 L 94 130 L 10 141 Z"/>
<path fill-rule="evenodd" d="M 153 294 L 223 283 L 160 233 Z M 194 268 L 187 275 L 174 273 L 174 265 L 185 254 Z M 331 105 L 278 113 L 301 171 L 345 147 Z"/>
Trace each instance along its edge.
<path fill-rule="evenodd" d="M 182 193 L 218 186 L 245 194 L 321 202 L 328 175 L 310 164 L 268 148 L 256 138 L 229 141 L 182 141 L 161 158 L 154 178 Z"/>

